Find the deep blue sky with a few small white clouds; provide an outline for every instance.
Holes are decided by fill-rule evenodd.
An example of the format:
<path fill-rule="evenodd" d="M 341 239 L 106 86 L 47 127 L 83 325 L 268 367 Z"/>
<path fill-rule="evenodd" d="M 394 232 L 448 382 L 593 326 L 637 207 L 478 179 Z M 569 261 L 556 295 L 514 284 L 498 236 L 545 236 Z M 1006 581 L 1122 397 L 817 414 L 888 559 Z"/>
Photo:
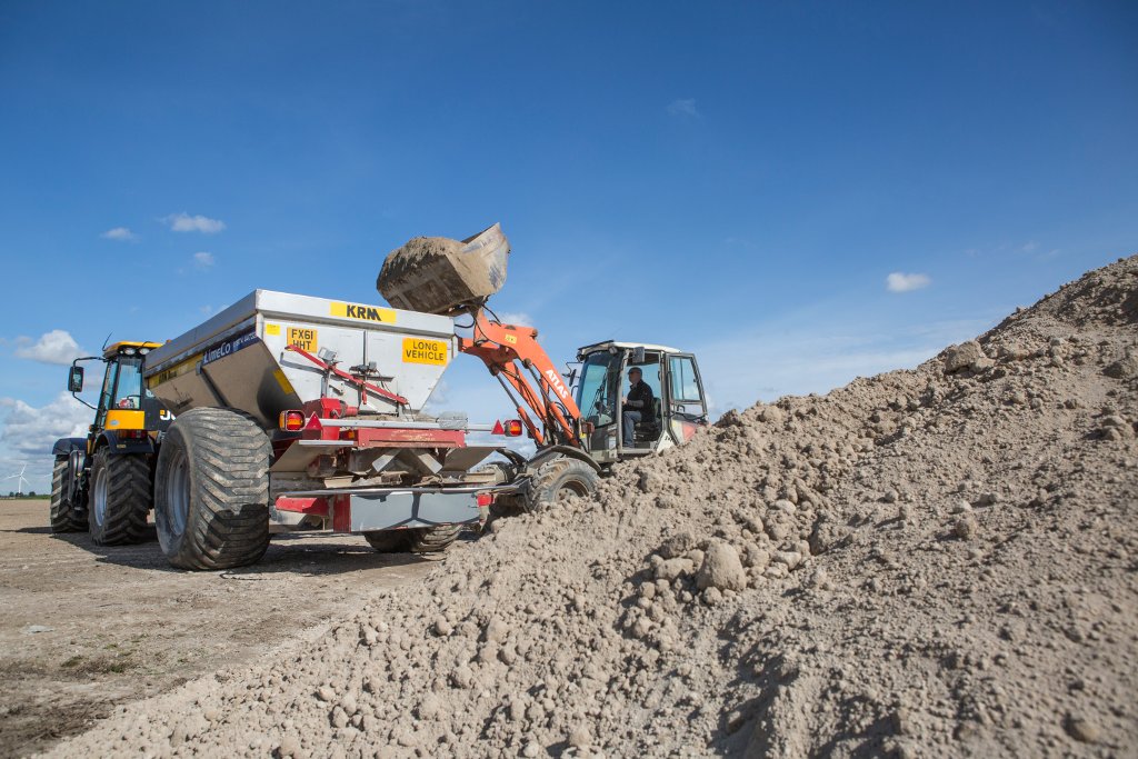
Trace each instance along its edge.
<path fill-rule="evenodd" d="M 0 475 L 38 489 L 72 341 L 376 300 L 417 234 L 501 221 L 500 313 L 695 350 L 720 411 L 1138 249 L 1130 2 L 8 1 L 0 102 Z M 498 393 L 460 358 L 436 406 Z"/>

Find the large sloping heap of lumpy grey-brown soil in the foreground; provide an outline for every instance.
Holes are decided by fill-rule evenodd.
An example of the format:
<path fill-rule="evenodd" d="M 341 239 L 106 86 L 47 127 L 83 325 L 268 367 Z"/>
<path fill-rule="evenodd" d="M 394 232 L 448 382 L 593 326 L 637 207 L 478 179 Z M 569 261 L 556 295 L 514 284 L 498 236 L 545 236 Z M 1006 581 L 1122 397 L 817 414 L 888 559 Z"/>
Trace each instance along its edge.
<path fill-rule="evenodd" d="M 1132 257 L 916 370 L 728 413 L 56 753 L 1132 753 L 1136 327 Z"/>

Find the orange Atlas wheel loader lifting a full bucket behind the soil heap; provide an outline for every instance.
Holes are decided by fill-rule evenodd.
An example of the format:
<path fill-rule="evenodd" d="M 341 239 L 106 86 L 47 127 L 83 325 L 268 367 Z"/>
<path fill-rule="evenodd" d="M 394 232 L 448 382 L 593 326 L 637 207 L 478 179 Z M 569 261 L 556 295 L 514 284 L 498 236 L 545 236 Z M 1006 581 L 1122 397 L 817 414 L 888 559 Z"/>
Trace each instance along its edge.
<path fill-rule="evenodd" d="M 612 464 L 687 442 L 708 424 L 695 356 L 662 345 L 605 340 L 578 349 L 566 379 L 531 327 L 503 324 L 487 300 L 505 281 L 509 242 L 498 224 L 465 240 L 415 238 L 393 250 L 376 287 L 388 303 L 420 312 L 469 315 L 459 350 L 480 358 L 518 411 L 514 423 L 534 440 L 530 460 L 501 467 L 514 496 L 541 509 L 564 495 L 592 493 Z M 621 382 L 640 369 L 653 407 L 626 446 Z"/>

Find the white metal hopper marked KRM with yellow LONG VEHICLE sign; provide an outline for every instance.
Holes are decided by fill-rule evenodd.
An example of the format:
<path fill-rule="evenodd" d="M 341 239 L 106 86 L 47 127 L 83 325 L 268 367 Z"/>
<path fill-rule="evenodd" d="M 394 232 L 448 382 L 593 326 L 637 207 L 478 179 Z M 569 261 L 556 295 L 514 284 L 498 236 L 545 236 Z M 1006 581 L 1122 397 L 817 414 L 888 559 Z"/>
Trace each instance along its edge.
<path fill-rule="evenodd" d="M 329 372 L 302 353 L 402 396 L 406 404 Z M 454 356 L 450 316 L 305 295 L 255 290 L 146 357 L 148 389 L 174 414 L 225 406 L 265 428 L 280 412 L 321 397 L 358 406 L 361 414 L 418 412 Z M 330 354 L 335 352 L 335 355 Z M 401 407 L 402 406 L 402 407 Z"/>

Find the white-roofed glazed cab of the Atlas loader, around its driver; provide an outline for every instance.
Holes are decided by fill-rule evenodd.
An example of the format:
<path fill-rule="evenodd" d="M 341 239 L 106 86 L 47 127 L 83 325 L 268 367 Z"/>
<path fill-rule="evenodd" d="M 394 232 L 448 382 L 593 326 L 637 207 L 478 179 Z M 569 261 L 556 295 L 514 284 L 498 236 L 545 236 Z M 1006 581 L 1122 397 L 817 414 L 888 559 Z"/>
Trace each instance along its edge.
<path fill-rule="evenodd" d="M 609 340 L 577 352 L 580 369 L 576 399 L 582 413 L 582 439 L 600 463 L 645 455 L 685 443 L 707 426 L 707 399 L 695 356 L 662 345 Z M 626 447 L 620 398 L 628 394 L 628 371 L 640 369 L 652 388 L 653 409 L 634 430 Z"/>

